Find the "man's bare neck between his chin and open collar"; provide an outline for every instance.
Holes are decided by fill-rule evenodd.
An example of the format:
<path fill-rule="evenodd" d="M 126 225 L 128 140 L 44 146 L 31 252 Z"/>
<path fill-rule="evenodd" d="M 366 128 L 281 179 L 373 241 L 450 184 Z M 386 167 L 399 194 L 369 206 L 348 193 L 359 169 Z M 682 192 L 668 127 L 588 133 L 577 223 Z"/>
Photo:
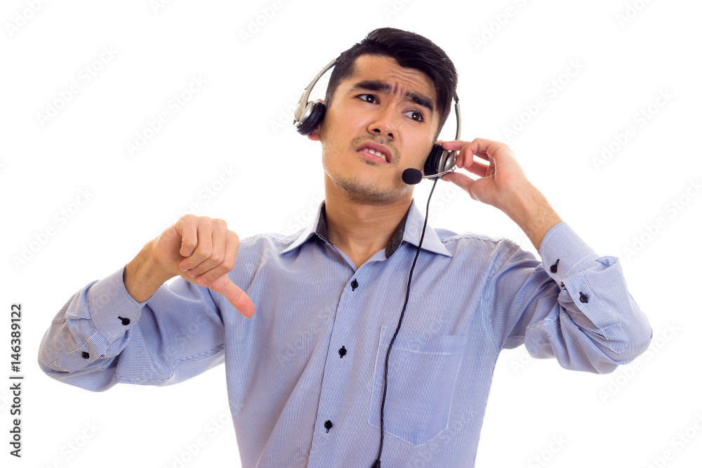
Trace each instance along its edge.
<path fill-rule="evenodd" d="M 326 178 L 326 229 L 329 241 L 354 262 L 356 268 L 390 243 L 412 203 L 409 196 L 382 205 L 353 201 Z"/>

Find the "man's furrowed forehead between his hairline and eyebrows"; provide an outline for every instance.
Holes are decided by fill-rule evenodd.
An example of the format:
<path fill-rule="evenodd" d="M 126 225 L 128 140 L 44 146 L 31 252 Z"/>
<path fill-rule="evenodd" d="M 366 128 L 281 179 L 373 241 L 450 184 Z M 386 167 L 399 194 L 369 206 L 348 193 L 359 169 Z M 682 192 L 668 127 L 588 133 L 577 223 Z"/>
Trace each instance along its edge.
<path fill-rule="evenodd" d="M 356 58 L 355 73 L 343 81 L 343 88 L 350 90 L 359 81 L 378 80 L 390 83 L 392 94 L 419 93 L 430 98 L 436 107 L 436 90 L 428 74 L 414 68 L 401 67 L 392 57 L 364 54 Z"/>

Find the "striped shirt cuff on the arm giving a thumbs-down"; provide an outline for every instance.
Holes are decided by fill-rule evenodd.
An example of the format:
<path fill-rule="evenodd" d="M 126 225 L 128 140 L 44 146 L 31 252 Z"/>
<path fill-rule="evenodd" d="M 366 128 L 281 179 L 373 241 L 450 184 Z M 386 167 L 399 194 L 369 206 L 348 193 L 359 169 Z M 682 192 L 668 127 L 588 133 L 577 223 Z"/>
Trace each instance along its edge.
<path fill-rule="evenodd" d="M 118 340 L 139 321 L 146 304 L 136 302 L 124 287 L 124 267 L 88 288 L 88 314 L 108 343 Z"/>

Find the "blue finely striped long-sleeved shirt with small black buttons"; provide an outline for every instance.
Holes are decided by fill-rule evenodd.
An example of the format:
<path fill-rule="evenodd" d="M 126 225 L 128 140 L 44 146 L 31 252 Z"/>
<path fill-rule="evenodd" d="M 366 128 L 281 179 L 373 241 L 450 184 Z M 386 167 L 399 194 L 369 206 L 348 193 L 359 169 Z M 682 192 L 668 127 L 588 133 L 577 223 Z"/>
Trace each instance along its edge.
<path fill-rule="evenodd" d="M 251 319 L 181 278 L 135 302 L 123 267 L 71 297 L 39 366 L 102 391 L 224 363 L 243 467 L 371 467 L 423 216 L 412 203 L 388 248 L 356 269 L 329 243 L 323 206 L 297 234 L 241 241 L 229 276 L 256 305 Z M 610 373 L 647 348 L 652 330 L 617 258 L 598 257 L 565 222 L 538 253 L 427 227 L 390 353 L 383 467 L 472 467 L 501 349 Z"/>

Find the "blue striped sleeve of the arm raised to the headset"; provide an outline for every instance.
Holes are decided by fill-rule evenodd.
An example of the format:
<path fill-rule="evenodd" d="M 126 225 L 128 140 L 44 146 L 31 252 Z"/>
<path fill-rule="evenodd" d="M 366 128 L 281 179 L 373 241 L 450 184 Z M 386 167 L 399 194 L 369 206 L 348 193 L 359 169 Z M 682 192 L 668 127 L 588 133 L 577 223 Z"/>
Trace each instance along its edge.
<path fill-rule="evenodd" d="M 567 369 L 611 373 L 653 335 L 618 258 L 599 257 L 565 222 L 543 237 L 542 262 L 501 241 L 482 307 L 499 349 L 527 347 Z"/>

